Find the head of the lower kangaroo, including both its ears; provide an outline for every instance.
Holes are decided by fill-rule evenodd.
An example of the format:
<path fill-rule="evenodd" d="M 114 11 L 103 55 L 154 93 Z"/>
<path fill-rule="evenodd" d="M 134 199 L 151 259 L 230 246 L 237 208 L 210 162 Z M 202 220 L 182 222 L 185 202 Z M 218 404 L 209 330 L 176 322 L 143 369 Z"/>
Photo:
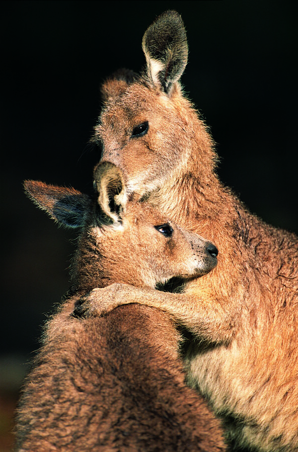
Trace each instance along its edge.
<path fill-rule="evenodd" d="M 217 249 L 184 231 L 147 203 L 129 201 L 122 171 L 101 162 L 94 196 L 26 181 L 31 198 L 59 224 L 80 228 L 74 259 L 74 290 L 112 282 L 155 287 L 172 277 L 200 276 L 217 265 Z"/>

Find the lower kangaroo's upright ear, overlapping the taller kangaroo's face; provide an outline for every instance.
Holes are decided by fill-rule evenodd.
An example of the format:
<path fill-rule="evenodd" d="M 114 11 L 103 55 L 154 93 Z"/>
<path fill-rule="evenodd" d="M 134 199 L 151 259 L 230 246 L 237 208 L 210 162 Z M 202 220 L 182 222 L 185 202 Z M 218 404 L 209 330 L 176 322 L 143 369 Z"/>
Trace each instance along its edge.
<path fill-rule="evenodd" d="M 104 214 L 102 222 L 121 223 L 127 194 L 120 168 L 110 162 L 100 162 L 94 170 L 94 184 L 98 192 L 98 205 Z"/>

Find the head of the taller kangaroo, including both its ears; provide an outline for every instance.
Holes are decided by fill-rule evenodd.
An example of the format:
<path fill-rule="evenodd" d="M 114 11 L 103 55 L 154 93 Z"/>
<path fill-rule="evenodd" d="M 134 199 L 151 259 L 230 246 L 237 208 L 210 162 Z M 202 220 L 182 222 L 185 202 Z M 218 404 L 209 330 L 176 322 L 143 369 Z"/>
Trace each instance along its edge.
<path fill-rule="evenodd" d="M 166 11 L 149 26 L 143 51 L 146 68 L 141 75 L 118 71 L 103 84 L 104 105 L 93 138 L 102 146 L 102 160 L 120 167 L 128 192 L 140 197 L 168 179 L 181 179 L 192 154 L 206 143 L 210 171 L 214 166 L 211 138 L 181 92 L 188 47 L 176 11 Z"/>

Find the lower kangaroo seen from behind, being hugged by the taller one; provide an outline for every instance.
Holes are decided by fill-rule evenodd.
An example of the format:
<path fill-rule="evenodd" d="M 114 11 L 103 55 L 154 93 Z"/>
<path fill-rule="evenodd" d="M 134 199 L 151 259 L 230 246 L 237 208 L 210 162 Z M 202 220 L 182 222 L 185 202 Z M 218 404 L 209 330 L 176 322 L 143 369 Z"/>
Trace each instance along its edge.
<path fill-rule="evenodd" d="M 171 318 L 130 305 L 80 320 L 74 303 L 114 281 L 154 287 L 217 264 L 215 246 L 153 207 L 128 202 L 121 172 L 95 170 L 96 194 L 27 181 L 60 224 L 79 227 L 72 287 L 27 377 L 16 451 L 224 451 L 219 421 L 185 385 Z"/>

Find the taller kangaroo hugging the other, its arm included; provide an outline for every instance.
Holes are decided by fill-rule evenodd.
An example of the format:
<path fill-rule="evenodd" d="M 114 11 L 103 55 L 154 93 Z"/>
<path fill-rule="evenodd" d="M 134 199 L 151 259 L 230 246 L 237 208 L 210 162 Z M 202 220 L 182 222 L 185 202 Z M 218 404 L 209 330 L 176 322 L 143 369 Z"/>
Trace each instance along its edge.
<path fill-rule="evenodd" d="M 208 128 L 179 84 L 188 49 L 178 13 L 149 26 L 143 50 L 143 74 L 122 71 L 103 85 L 94 140 L 134 199 L 207 237 L 221 257 L 184 294 L 115 284 L 91 292 L 81 313 L 132 299 L 167 311 L 200 338 L 185 357 L 189 384 L 237 447 L 298 450 L 298 238 L 249 213 L 218 180 Z"/>

